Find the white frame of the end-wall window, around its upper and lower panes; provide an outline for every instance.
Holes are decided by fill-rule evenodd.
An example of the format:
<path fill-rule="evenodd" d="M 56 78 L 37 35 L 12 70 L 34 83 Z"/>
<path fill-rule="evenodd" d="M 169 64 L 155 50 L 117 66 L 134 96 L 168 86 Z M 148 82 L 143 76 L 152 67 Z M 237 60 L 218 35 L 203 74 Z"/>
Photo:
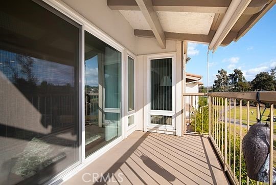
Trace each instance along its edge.
<path fill-rule="evenodd" d="M 163 59 L 163 58 L 172 58 L 172 110 L 171 111 L 163 111 L 163 110 L 151 110 L 151 60 L 153 59 Z M 167 54 L 156 54 L 156 55 L 150 55 L 147 57 L 147 118 L 146 118 L 146 127 L 148 130 L 175 130 L 175 59 L 176 54 L 175 53 L 167 53 Z M 151 124 L 150 117 L 151 115 L 164 115 L 164 116 L 172 116 L 172 125 L 157 125 L 157 124 Z"/>

